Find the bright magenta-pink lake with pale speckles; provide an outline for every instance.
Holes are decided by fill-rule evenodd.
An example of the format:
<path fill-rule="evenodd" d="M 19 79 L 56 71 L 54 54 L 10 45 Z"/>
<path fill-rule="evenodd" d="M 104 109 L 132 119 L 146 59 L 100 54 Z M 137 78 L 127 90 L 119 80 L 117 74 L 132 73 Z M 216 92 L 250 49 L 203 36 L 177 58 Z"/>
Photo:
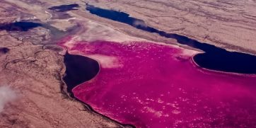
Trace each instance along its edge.
<path fill-rule="evenodd" d="M 207 71 L 193 64 L 191 50 L 150 42 L 65 45 L 100 63 L 98 75 L 72 91 L 113 120 L 153 128 L 256 127 L 256 76 Z"/>

